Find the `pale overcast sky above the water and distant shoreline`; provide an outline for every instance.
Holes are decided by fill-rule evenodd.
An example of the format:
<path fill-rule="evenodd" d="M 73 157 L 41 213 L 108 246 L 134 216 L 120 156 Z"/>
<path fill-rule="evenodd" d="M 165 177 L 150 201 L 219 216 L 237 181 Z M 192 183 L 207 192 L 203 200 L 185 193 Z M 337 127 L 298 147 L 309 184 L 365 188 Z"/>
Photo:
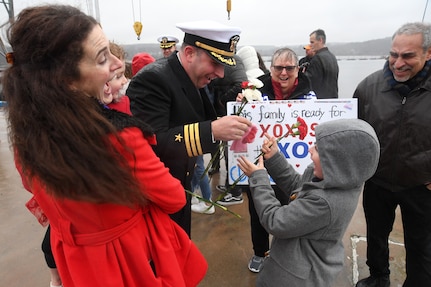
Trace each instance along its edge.
<path fill-rule="evenodd" d="M 99 0 L 100 21 L 110 40 L 119 44 L 156 43 L 161 35 L 182 42 L 176 23 L 210 19 L 242 29 L 242 45 L 306 44 L 315 29 L 327 42 L 356 42 L 392 36 L 406 22 L 422 21 L 427 0 Z M 94 2 L 94 1 L 93 1 Z M 431 1 L 430 1 L 431 2 Z M 90 13 L 86 0 L 15 0 L 15 15 L 26 6 L 67 3 Z M 132 4 L 133 3 L 133 4 Z M 132 6 L 134 9 L 132 9 Z M 424 22 L 431 22 L 431 3 Z M 7 19 L 0 6 L 0 19 Z M 141 39 L 133 30 L 141 21 Z"/>

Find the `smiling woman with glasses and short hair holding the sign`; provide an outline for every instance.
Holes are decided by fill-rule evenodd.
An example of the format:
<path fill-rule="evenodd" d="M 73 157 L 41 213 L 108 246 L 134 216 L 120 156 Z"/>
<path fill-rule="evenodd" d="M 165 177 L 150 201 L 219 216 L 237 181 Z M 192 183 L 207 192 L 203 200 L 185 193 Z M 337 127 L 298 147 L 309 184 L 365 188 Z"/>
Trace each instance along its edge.
<path fill-rule="evenodd" d="M 274 52 L 271 58 L 270 74 L 264 74 L 258 79 L 262 81 L 260 89 L 262 96 L 268 100 L 297 100 L 315 98 L 311 90 L 310 80 L 307 75 L 299 70 L 298 56 L 289 48 L 280 48 Z M 257 74 L 257 73 L 256 73 Z M 242 100 L 242 95 L 238 99 Z M 287 204 L 289 198 L 286 193 L 274 185 L 275 195 L 282 204 Z M 249 199 L 252 198 L 250 189 L 246 189 Z M 259 221 L 253 200 L 248 201 L 250 214 L 251 241 L 254 255 L 248 263 L 252 272 L 260 272 L 269 250 L 269 233 Z"/>

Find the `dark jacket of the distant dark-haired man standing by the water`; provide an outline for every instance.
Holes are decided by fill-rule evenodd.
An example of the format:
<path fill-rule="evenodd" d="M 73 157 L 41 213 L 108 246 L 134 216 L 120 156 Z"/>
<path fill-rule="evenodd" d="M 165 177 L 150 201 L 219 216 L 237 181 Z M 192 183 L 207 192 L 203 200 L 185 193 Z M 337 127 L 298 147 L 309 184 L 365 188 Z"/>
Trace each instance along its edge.
<path fill-rule="evenodd" d="M 338 62 L 327 47 L 311 58 L 306 74 L 318 99 L 338 98 Z"/>

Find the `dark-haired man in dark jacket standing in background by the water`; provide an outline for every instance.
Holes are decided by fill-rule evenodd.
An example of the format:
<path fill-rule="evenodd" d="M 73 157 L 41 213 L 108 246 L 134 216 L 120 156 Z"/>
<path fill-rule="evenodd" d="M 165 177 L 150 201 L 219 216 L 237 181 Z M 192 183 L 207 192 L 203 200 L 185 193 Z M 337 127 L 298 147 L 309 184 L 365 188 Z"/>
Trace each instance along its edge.
<path fill-rule="evenodd" d="M 318 29 L 310 34 L 310 46 L 314 53 L 306 73 L 319 99 L 338 98 L 338 62 L 326 47 L 325 31 Z"/>

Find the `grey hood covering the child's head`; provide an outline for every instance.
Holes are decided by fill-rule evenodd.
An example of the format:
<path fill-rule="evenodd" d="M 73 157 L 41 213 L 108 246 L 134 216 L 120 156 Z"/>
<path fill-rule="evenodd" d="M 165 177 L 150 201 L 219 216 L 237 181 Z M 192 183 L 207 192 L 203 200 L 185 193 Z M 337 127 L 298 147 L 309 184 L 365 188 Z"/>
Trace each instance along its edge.
<path fill-rule="evenodd" d="M 363 184 L 377 169 L 380 144 L 374 129 L 359 119 L 340 119 L 316 127 L 324 187 Z"/>

